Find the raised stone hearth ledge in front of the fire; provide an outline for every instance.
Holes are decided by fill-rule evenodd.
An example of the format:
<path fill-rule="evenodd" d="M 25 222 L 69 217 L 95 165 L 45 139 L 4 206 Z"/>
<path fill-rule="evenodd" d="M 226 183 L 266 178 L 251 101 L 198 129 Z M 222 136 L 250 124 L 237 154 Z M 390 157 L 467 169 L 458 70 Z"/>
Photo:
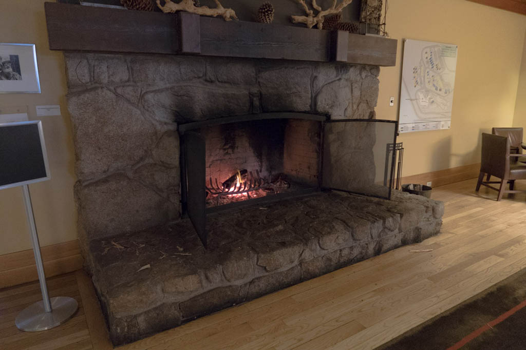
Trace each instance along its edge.
<path fill-rule="evenodd" d="M 443 203 L 320 192 L 90 243 L 89 270 L 115 345 L 438 234 Z M 146 267 L 145 267 L 146 266 Z"/>

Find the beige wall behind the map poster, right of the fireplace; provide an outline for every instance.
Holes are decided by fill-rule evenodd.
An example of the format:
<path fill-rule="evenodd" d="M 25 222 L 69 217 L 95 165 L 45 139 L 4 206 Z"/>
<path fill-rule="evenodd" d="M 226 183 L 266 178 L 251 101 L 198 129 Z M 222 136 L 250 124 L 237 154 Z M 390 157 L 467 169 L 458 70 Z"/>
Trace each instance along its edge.
<path fill-rule="evenodd" d="M 451 129 L 402 134 L 403 176 L 477 163 L 481 132 L 512 125 L 525 29 L 524 15 L 464 0 L 389 1 L 397 65 L 380 70 L 377 118 L 398 119 L 403 38 L 459 46 Z"/>

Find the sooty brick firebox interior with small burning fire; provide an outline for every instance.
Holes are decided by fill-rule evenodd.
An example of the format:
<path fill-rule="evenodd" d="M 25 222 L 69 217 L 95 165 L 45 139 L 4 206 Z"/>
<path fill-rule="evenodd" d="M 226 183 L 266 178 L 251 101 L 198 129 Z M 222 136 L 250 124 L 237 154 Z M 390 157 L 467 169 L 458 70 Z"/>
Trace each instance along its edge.
<path fill-rule="evenodd" d="M 206 142 L 206 206 L 316 187 L 320 122 L 262 119 L 200 129 Z"/>

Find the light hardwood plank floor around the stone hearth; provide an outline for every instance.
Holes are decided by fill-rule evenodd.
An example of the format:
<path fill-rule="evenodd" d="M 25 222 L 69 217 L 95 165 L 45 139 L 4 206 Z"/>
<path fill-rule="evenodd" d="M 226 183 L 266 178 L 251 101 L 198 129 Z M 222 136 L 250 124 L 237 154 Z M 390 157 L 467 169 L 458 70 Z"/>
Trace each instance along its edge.
<path fill-rule="evenodd" d="M 442 231 L 254 301 L 199 318 L 119 349 L 371 349 L 526 267 L 526 194 L 495 201 L 476 179 L 433 189 L 446 203 Z M 526 188 L 526 181 L 515 185 Z M 410 250 L 432 249 L 412 253 Z M 41 298 L 38 283 L 0 290 L 0 348 L 106 350 L 89 277 L 48 280 L 51 296 L 79 311 L 45 332 L 20 332 L 17 313 Z"/>

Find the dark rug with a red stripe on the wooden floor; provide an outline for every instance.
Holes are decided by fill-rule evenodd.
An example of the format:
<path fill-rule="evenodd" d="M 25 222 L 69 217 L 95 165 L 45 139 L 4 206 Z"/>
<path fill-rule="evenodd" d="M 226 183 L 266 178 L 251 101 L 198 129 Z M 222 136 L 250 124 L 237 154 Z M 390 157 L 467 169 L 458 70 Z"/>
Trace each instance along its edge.
<path fill-rule="evenodd" d="M 376 350 L 526 349 L 526 269 Z"/>

